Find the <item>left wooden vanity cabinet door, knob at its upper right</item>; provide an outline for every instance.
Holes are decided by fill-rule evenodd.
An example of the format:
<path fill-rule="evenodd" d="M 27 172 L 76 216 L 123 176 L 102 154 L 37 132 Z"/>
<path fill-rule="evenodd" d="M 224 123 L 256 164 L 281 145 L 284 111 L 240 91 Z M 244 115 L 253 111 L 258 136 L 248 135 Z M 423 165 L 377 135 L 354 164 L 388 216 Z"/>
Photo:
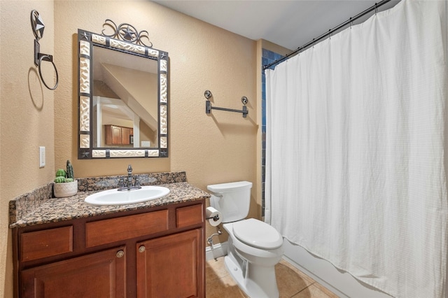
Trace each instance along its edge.
<path fill-rule="evenodd" d="M 22 271 L 20 297 L 125 297 L 125 248 Z"/>

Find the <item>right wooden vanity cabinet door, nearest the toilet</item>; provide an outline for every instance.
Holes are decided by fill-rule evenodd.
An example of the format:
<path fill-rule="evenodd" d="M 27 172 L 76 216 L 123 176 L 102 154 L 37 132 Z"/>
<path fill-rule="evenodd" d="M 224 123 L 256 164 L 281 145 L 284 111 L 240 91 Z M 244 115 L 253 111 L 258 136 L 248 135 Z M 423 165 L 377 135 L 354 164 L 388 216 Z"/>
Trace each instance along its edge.
<path fill-rule="evenodd" d="M 204 297 L 202 229 L 137 243 L 137 297 Z"/>

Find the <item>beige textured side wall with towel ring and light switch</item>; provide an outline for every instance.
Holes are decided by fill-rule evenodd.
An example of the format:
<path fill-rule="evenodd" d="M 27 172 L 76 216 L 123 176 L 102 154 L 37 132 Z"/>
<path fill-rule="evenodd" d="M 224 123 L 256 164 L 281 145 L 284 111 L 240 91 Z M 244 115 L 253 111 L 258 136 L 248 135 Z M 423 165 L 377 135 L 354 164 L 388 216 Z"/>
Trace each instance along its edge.
<path fill-rule="evenodd" d="M 45 30 L 41 52 L 54 53 L 53 1 L 0 1 L 0 297 L 12 297 L 12 242 L 8 201 L 52 180 L 55 169 L 53 103 L 55 92 L 38 78 L 34 66 L 31 10 L 38 10 Z M 55 57 L 58 65 L 59 57 Z M 47 65 L 48 64 L 48 65 Z M 53 85 L 51 64 L 42 66 Z M 46 148 L 39 169 L 38 146 Z"/>

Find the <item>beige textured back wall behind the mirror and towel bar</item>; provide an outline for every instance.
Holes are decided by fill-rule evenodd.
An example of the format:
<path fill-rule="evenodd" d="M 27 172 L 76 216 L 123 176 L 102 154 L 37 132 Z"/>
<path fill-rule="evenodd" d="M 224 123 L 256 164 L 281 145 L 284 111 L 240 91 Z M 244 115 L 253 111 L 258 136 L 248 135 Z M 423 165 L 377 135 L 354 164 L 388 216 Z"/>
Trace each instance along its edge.
<path fill-rule="evenodd" d="M 107 18 L 147 30 L 154 48 L 169 52 L 169 158 L 76 158 L 76 32 L 101 32 Z M 55 1 L 55 23 L 55 52 L 62 59 L 62 82 L 55 93 L 56 166 L 71 159 L 76 177 L 123 174 L 129 163 L 134 173 L 186 171 L 188 182 L 202 190 L 213 183 L 250 180 L 250 215 L 259 216 L 255 41 L 150 1 Z M 207 115 L 205 90 L 214 94 L 214 106 L 225 108 L 241 109 L 241 97 L 248 97 L 248 118 L 222 111 Z M 206 234 L 215 231 L 208 227 Z"/>

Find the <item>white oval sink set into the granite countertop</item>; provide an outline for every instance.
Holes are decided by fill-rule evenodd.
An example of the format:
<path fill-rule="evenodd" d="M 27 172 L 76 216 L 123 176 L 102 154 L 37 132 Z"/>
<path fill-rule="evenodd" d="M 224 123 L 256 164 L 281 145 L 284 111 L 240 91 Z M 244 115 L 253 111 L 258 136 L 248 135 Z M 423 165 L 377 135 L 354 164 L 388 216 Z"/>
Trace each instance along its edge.
<path fill-rule="evenodd" d="M 169 194 L 167 187 L 148 185 L 142 186 L 138 190 L 104 190 L 85 198 L 85 202 L 92 205 L 125 205 L 141 203 L 143 201 L 151 201 L 153 199 L 159 199 Z"/>

